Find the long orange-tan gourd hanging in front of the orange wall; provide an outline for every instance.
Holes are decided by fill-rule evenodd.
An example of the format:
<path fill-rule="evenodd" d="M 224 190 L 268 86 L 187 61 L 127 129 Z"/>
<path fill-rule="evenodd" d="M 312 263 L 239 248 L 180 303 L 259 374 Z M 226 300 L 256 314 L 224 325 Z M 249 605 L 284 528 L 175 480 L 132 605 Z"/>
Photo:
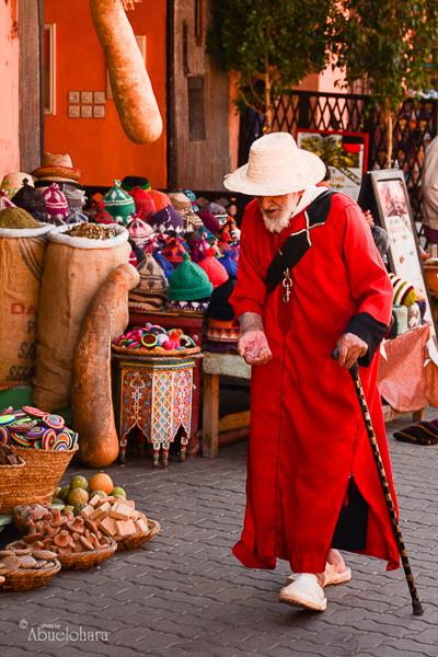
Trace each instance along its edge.
<path fill-rule="evenodd" d="M 114 101 L 126 135 L 136 143 L 155 141 L 163 122 L 125 9 L 138 0 L 90 0 L 91 18 L 105 51 Z"/>

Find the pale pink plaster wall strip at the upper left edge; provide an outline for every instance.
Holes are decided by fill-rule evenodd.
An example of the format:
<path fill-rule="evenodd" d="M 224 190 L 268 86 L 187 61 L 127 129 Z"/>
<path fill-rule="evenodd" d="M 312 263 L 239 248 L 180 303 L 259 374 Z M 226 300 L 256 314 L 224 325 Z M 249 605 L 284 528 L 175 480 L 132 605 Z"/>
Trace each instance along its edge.
<path fill-rule="evenodd" d="M 0 0 L 0 182 L 20 169 L 19 39 L 14 28 L 16 2 Z"/>

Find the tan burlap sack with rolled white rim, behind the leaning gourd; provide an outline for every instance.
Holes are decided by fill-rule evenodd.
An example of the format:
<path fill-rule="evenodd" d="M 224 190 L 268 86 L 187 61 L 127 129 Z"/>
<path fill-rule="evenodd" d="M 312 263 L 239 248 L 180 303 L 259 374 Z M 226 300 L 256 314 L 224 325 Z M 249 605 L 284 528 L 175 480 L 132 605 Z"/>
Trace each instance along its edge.
<path fill-rule="evenodd" d="M 110 240 L 69 238 L 70 227 L 49 235 L 39 302 L 34 378 L 34 403 L 54 411 L 68 406 L 74 348 L 82 320 L 108 274 L 129 261 L 128 231 L 117 226 Z M 127 299 L 120 299 L 113 322 L 114 335 L 128 323 Z"/>

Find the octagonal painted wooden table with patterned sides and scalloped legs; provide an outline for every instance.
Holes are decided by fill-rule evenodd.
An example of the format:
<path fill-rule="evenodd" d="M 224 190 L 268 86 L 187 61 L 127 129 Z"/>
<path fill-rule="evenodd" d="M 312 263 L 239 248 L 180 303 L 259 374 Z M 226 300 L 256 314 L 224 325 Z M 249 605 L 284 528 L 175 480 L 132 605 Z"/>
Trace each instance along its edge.
<path fill-rule="evenodd" d="M 138 427 L 152 446 L 153 465 L 168 464 L 171 443 L 181 433 L 184 460 L 192 433 L 193 372 L 196 356 L 132 356 L 113 353 L 117 367 L 119 460 L 128 434 Z"/>

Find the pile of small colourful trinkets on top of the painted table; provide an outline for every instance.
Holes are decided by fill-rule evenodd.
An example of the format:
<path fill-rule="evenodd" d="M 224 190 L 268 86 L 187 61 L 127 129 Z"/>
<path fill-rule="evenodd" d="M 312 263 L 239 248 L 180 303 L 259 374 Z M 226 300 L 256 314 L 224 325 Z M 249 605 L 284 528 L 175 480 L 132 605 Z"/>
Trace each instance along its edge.
<path fill-rule="evenodd" d="M 199 351 L 197 336 L 186 335 L 182 328 L 165 330 L 158 324 L 148 322 L 145 326 L 127 331 L 113 341 L 113 349 L 135 349 L 151 356 L 166 356 L 173 353 L 183 355 L 187 350 L 192 354 Z"/>

